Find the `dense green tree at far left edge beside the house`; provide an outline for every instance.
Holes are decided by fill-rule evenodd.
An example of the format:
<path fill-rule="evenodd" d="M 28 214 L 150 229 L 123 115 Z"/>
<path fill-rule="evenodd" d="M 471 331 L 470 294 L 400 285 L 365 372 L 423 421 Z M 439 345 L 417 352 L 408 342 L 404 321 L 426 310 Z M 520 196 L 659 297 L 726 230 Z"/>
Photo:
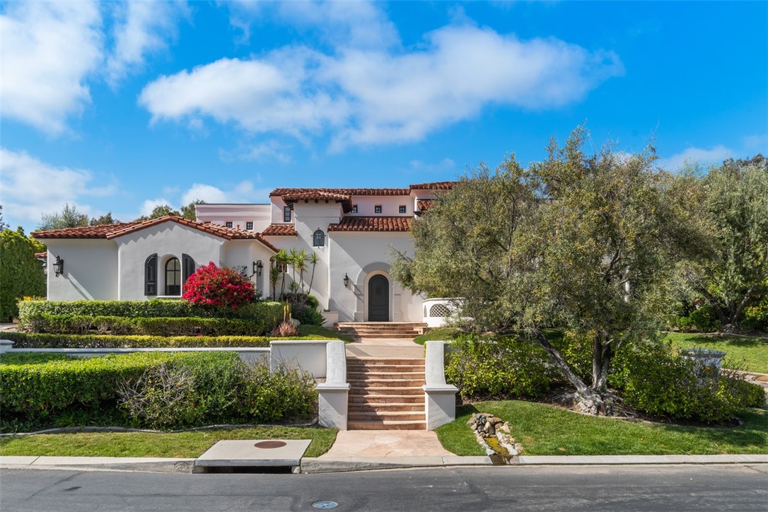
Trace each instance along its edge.
<path fill-rule="evenodd" d="M 35 246 L 18 231 L 0 233 L 0 319 L 18 316 L 17 302 L 25 296 L 45 296 L 45 273 L 35 258 Z"/>

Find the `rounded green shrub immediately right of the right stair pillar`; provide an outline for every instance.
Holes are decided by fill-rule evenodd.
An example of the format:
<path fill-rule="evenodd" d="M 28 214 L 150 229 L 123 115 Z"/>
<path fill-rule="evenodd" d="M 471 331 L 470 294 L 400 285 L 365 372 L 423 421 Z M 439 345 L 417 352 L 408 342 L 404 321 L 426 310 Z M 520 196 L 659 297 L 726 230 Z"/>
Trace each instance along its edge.
<path fill-rule="evenodd" d="M 553 372 L 543 348 L 517 339 L 462 336 L 451 344 L 445 378 L 465 398 L 536 397 Z"/>

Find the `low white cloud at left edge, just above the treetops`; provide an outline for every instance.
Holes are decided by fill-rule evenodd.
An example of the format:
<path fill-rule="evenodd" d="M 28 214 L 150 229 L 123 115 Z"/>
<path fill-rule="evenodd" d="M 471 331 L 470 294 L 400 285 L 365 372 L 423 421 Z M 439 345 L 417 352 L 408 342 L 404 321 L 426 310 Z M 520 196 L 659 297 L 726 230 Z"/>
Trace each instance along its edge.
<path fill-rule="evenodd" d="M 111 196 L 114 183 L 94 184 L 91 171 L 55 167 L 31 157 L 0 148 L 0 190 L 4 216 L 15 223 L 37 225 L 42 213 L 59 211 L 65 203 L 92 213 L 88 197 Z"/>

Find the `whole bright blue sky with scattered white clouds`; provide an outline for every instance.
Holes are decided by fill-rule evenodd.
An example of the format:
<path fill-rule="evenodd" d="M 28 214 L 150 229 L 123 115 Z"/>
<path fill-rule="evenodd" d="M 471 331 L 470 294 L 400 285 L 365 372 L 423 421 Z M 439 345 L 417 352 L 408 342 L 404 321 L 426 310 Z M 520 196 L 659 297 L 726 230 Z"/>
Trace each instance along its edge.
<path fill-rule="evenodd" d="M 545 157 L 768 153 L 768 2 L 0 4 L 0 203 L 264 203 Z"/>

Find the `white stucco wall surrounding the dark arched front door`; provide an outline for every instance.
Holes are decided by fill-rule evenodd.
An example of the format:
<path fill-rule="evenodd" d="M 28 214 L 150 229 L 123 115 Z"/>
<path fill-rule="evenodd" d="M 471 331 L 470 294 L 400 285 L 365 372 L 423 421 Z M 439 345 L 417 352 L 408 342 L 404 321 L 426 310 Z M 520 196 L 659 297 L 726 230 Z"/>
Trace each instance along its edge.
<path fill-rule="evenodd" d="M 409 233 L 338 232 L 329 236 L 329 309 L 341 322 L 368 321 L 368 281 L 380 274 L 389 280 L 389 321 L 421 322 L 424 299 L 402 289 L 389 275 L 389 248 L 412 251 Z M 344 275 L 349 286 L 344 288 Z"/>

